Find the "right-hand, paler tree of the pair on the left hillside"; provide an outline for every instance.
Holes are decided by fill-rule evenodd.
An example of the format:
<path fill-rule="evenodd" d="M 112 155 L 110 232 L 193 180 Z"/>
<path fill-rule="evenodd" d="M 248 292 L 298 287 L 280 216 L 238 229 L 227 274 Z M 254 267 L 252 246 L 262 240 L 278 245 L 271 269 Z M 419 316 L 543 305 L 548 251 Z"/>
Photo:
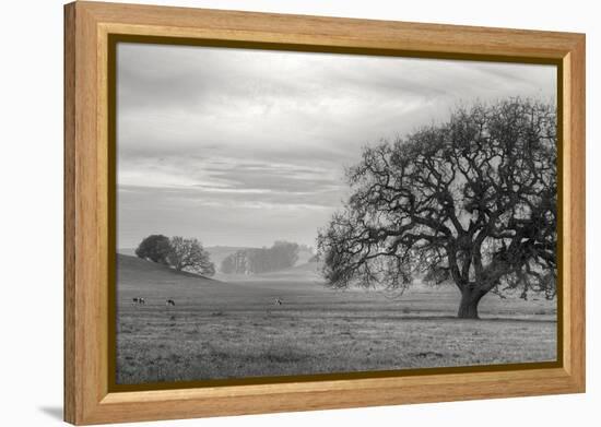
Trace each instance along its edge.
<path fill-rule="evenodd" d="M 190 271 L 198 274 L 212 276 L 215 266 L 211 262 L 209 252 L 196 238 L 172 237 L 170 250 L 167 256 L 168 263 L 177 271 Z"/>

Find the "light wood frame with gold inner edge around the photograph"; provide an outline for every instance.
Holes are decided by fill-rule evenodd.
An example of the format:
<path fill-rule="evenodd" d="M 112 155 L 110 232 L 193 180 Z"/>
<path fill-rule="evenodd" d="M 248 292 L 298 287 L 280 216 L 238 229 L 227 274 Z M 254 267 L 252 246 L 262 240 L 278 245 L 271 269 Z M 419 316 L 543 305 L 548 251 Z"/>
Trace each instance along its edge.
<path fill-rule="evenodd" d="M 555 61 L 563 265 L 558 367 L 177 390 L 108 387 L 107 46 L 110 34 L 299 50 L 373 49 L 434 58 Z M 302 48 L 304 47 L 304 48 Z M 585 35 L 216 10 L 64 7 L 64 419 L 101 424 L 585 391 Z"/>

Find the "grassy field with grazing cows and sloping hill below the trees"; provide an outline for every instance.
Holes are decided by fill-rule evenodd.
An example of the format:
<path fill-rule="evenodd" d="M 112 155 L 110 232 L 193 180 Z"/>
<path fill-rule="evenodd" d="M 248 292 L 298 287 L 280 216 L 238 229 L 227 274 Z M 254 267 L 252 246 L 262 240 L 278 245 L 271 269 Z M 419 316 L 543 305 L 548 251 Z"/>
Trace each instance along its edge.
<path fill-rule="evenodd" d="M 117 262 L 117 382 L 203 380 L 554 360 L 555 301 L 459 293 L 333 292 L 310 264 L 216 280 L 133 257 Z M 142 296 L 145 306 L 132 305 Z M 175 307 L 166 307 L 166 299 Z M 275 298 L 283 305 L 275 306 Z"/>

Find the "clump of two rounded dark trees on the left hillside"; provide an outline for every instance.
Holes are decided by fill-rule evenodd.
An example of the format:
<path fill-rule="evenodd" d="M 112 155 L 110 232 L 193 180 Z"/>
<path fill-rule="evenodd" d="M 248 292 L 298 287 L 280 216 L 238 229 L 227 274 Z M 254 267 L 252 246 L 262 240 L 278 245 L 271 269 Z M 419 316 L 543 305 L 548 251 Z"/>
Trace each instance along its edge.
<path fill-rule="evenodd" d="M 215 274 L 215 265 L 209 252 L 196 238 L 151 235 L 135 249 L 135 256 L 144 260 L 170 266 L 177 271 L 188 271 L 207 276 Z"/>

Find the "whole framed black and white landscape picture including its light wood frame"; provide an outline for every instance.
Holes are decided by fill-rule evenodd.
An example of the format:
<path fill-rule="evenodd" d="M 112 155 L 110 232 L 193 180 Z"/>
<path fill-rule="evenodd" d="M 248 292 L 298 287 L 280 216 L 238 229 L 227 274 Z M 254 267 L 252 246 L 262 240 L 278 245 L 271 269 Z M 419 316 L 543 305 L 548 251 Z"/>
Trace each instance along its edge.
<path fill-rule="evenodd" d="M 585 36 L 64 8 L 64 417 L 585 391 Z"/>

